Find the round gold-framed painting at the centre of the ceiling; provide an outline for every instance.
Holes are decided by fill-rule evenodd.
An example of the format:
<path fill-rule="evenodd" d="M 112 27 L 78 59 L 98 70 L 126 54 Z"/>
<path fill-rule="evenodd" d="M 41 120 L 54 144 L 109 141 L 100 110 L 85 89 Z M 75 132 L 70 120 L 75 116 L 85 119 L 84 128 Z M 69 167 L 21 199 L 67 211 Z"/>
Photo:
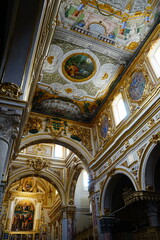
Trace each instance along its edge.
<path fill-rule="evenodd" d="M 63 61 L 63 74 L 72 81 L 82 82 L 95 73 L 95 61 L 86 53 L 74 53 Z"/>

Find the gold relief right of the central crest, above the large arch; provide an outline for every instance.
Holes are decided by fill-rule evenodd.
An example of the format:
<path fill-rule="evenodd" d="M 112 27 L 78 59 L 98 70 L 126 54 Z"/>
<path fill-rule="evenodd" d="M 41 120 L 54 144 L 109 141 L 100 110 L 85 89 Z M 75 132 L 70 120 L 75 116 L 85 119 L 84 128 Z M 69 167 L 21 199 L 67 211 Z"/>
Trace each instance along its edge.
<path fill-rule="evenodd" d="M 81 142 L 89 152 L 92 152 L 90 129 L 82 128 L 79 125 L 74 124 L 68 127 L 68 132 L 72 139 Z"/>

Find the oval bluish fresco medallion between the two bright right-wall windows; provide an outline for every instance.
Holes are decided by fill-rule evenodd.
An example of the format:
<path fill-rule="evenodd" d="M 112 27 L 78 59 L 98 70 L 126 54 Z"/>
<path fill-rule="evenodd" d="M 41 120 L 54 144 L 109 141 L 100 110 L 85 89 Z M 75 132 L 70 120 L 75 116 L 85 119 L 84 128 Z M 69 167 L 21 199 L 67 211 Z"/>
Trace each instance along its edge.
<path fill-rule="evenodd" d="M 141 99 L 145 89 L 146 79 L 142 72 L 136 72 L 132 76 L 132 82 L 129 86 L 129 95 L 132 100 Z"/>

